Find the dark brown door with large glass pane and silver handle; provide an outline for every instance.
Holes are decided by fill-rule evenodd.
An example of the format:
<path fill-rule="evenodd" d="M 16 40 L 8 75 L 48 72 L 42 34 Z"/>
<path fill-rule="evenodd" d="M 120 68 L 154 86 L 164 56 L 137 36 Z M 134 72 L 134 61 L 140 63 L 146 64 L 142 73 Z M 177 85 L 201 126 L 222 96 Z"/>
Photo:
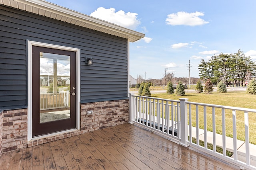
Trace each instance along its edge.
<path fill-rule="evenodd" d="M 32 137 L 76 128 L 76 52 L 32 46 Z"/>

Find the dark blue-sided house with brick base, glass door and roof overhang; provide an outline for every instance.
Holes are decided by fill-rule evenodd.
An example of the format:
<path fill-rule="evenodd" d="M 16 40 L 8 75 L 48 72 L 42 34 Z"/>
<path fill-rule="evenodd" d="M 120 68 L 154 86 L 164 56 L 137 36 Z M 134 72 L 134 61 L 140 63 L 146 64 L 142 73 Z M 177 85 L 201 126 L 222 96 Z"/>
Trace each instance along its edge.
<path fill-rule="evenodd" d="M 2 0 L 0 16 L 0 155 L 128 122 L 144 34 L 43 0 Z"/>

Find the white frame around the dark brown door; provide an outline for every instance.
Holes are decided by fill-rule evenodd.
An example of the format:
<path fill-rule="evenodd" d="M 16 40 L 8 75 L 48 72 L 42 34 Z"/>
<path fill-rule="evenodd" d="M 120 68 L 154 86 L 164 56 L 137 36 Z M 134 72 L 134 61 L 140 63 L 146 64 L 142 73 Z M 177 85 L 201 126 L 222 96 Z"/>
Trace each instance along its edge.
<path fill-rule="evenodd" d="M 32 46 L 46 47 L 52 49 L 60 49 L 66 51 L 76 52 L 76 129 L 80 129 L 80 49 L 73 47 L 66 47 L 61 45 L 54 45 L 48 43 L 41 43 L 37 41 L 27 40 L 27 61 L 28 61 L 28 141 L 32 140 Z M 70 130 L 67 130 L 70 131 Z M 56 134 L 65 133 L 67 131 L 57 132 Z M 73 129 L 72 129 L 73 131 Z M 51 133 L 50 135 L 54 135 Z M 49 134 L 48 134 L 49 135 Z M 47 135 L 42 135 L 44 138 Z M 36 137 L 38 138 L 38 137 Z"/>

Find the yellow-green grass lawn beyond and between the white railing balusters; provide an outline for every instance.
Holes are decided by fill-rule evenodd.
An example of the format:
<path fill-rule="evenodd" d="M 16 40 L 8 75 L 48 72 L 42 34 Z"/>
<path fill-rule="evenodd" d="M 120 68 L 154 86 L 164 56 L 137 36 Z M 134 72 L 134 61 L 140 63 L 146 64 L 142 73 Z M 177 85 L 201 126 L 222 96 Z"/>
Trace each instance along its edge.
<path fill-rule="evenodd" d="M 198 93 L 186 93 L 185 96 L 176 96 L 174 94 L 152 94 L 154 98 L 164 98 L 170 100 L 179 100 L 179 98 L 188 98 L 189 102 L 198 102 L 206 104 L 216 104 L 223 106 L 234 106 L 256 109 L 256 95 L 246 94 L 242 92 L 226 92 L 218 93 L 212 92 L 212 94 L 198 94 Z M 212 131 L 212 108 L 206 107 L 207 112 L 207 130 Z M 221 109 L 216 109 L 216 132 L 222 134 L 222 114 Z M 203 107 L 199 106 L 199 127 L 204 129 L 204 112 Z M 192 107 L 192 125 L 196 126 L 196 112 Z M 233 137 L 232 129 L 232 112 L 225 111 L 226 121 L 226 136 Z M 237 138 L 239 140 L 245 140 L 244 134 L 244 112 L 236 112 L 236 126 L 237 126 Z M 256 144 L 256 113 L 249 113 L 249 137 L 250 143 Z"/>

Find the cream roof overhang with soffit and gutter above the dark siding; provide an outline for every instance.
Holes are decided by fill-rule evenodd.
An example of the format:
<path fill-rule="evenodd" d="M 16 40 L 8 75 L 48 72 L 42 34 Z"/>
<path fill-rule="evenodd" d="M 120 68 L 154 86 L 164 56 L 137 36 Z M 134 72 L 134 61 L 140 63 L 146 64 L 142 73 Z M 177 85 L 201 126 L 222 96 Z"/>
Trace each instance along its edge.
<path fill-rule="evenodd" d="M 0 4 L 122 37 L 128 39 L 130 42 L 135 42 L 145 36 L 143 33 L 139 33 L 44 0 L 0 0 Z"/>

